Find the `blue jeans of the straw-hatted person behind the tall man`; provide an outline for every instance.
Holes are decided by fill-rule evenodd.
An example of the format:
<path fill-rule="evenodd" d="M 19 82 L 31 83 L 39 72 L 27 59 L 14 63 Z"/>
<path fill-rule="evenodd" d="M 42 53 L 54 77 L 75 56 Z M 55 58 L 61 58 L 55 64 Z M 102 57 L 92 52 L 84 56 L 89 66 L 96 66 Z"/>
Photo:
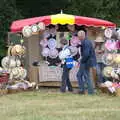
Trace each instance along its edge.
<path fill-rule="evenodd" d="M 102 73 L 104 67 L 105 67 L 104 63 L 97 63 L 96 71 L 97 71 L 98 83 L 105 82 L 105 78 L 104 78 L 103 73 Z"/>

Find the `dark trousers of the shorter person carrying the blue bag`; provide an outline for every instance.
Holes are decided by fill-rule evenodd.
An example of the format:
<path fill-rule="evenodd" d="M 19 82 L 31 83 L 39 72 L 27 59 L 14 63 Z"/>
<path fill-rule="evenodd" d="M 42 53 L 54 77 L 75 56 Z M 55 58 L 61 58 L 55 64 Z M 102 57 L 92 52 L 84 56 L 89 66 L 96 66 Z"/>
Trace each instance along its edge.
<path fill-rule="evenodd" d="M 69 79 L 69 72 L 70 69 L 67 68 L 66 65 L 63 65 L 62 83 L 60 88 L 61 92 L 65 92 L 66 87 L 68 87 L 68 91 L 72 91 L 72 85 Z"/>

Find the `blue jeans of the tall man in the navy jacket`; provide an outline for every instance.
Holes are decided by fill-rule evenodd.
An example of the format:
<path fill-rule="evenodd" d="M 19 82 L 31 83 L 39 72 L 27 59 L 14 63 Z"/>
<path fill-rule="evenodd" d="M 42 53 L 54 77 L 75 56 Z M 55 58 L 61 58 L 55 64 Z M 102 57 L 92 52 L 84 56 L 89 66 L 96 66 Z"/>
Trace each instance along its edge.
<path fill-rule="evenodd" d="M 85 92 L 85 85 L 87 85 L 88 94 L 94 93 L 93 82 L 90 79 L 90 68 L 85 64 L 80 64 L 80 68 L 77 73 L 77 79 L 80 92 Z"/>

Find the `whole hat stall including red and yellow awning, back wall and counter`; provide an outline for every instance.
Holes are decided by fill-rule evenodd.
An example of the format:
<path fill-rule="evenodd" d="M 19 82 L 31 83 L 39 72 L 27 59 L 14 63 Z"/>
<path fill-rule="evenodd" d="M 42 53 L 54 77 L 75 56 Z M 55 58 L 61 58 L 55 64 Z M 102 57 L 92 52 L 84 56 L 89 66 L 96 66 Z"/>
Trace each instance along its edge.
<path fill-rule="evenodd" d="M 40 85 L 59 86 L 62 69 L 59 66 L 60 44 L 59 40 L 65 37 L 69 40 L 73 56 L 77 57 L 78 30 L 87 30 L 88 38 L 95 39 L 96 36 L 104 34 L 104 29 L 115 28 L 116 24 L 90 17 L 74 16 L 69 14 L 56 14 L 13 21 L 11 32 L 22 34 L 26 47 L 24 64 L 29 71 L 30 81 Z M 39 61 L 39 63 L 38 63 Z M 37 66 L 37 67 L 34 67 Z M 70 73 L 70 79 L 76 82 L 74 67 Z"/>

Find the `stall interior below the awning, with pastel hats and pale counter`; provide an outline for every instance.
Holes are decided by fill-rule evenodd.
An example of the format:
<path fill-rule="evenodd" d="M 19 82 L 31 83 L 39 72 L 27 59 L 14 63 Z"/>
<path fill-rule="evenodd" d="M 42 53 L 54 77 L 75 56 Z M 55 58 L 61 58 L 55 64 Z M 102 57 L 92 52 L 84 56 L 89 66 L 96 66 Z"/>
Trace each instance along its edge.
<path fill-rule="evenodd" d="M 46 26 L 44 31 L 24 38 L 28 58 L 26 59 L 26 65 L 29 68 L 30 81 L 35 81 L 41 86 L 60 86 L 62 75 L 61 60 L 59 59 L 62 50 L 60 40 L 62 38 L 68 40 L 72 57 L 75 61 L 78 61 L 80 58 L 80 43 L 77 32 L 79 30 L 84 30 L 93 44 L 97 36 L 103 37 L 104 31 L 101 27 L 57 24 Z M 77 86 L 77 71 L 78 66 L 74 66 L 70 72 L 70 80 L 73 86 Z M 96 76 L 93 71 L 91 71 L 91 77 L 95 80 Z"/>

